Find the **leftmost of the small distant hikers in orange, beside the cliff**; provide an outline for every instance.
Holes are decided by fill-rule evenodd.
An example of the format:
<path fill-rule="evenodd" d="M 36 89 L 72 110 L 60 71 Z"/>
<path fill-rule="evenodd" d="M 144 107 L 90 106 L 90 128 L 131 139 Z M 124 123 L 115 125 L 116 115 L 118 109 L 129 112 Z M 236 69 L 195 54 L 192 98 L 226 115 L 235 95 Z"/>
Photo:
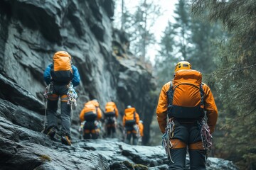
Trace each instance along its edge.
<path fill-rule="evenodd" d="M 80 112 L 80 121 L 83 123 L 83 138 L 97 139 L 100 135 L 100 119 L 102 111 L 100 103 L 94 99 L 85 103 L 84 108 Z"/>

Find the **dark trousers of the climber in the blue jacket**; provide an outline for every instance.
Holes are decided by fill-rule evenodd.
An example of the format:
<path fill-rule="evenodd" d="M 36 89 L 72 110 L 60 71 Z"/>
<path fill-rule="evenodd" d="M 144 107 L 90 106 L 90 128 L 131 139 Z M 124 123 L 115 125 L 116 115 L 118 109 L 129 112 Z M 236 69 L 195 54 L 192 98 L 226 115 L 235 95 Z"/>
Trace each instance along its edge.
<path fill-rule="evenodd" d="M 53 94 L 48 96 L 47 123 L 48 128 L 58 127 L 58 98 L 60 97 L 61 135 L 70 137 L 70 105 L 68 105 L 68 86 L 53 84 Z"/>

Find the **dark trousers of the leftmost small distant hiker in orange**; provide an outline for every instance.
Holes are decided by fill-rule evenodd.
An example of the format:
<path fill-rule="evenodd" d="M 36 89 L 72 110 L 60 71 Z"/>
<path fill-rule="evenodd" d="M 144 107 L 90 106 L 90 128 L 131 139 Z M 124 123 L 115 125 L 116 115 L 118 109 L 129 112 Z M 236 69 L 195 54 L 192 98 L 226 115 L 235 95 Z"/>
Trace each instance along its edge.
<path fill-rule="evenodd" d="M 99 130 L 95 125 L 95 120 L 85 122 L 83 137 L 84 139 L 93 139 L 93 140 L 99 137 Z"/>

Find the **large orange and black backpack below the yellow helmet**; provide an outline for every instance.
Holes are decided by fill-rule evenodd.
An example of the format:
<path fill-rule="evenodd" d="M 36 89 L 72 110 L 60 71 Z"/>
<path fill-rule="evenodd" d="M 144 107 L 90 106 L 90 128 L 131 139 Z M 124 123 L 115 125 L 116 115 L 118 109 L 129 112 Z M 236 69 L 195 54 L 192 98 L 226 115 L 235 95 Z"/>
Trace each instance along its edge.
<path fill-rule="evenodd" d="M 193 69 L 176 72 L 169 91 L 169 118 L 197 119 L 204 116 L 203 112 L 202 74 Z"/>

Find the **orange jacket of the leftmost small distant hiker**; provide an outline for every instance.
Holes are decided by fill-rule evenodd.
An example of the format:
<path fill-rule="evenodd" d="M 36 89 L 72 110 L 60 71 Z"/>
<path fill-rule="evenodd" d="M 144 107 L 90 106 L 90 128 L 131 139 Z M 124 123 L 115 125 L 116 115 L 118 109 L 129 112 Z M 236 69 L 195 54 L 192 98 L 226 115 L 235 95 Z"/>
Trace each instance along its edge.
<path fill-rule="evenodd" d="M 97 113 L 96 113 L 96 108 L 97 108 Z M 100 120 L 102 118 L 102 111 L 100 110 L 100 103 L 97 101 L 88 101 L 85 103 L 85 107 L 82 109 L 80 112 L 80 121 L 83 122 L 85 120 L 85 114 L 93 112 L 97 114 L 96 120 Z"/>

